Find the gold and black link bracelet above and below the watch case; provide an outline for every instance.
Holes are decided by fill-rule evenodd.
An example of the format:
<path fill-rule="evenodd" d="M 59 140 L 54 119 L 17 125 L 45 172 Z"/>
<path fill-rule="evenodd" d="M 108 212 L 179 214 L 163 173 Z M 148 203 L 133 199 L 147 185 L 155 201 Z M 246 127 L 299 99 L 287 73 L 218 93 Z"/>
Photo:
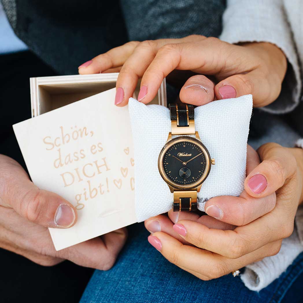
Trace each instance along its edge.
<path fill-rule="evenodd" d="M 193 105 L 170 104 L 171 135 L 195 135 Z M 174 189 L 174 211 L 197 210 L 197 189 Z"/>

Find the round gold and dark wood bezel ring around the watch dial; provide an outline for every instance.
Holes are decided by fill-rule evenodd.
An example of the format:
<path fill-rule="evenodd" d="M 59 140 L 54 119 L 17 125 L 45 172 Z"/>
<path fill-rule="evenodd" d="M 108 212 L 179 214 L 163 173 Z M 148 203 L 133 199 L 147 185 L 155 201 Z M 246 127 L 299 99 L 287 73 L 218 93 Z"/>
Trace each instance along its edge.
<path fill-rule="evenodd" d="M 205 155 L 205 160 L 206 160 L 205 171 L 204 171 L 203 175 L 201 176 L 201 178 L 198 179 L 195 183 L 192 183 L 189 185 L 180 185 L 180 184 L 177 184 L 177 183 L 171 181 L 165 174 L 164 167 L 163 167 L 163 157 L 164 157 L 166 151 L 168 150 L 168 148 L 170 148 L 171 145 L 174 145 L 175 143 L 182 142 L 182 141 L 189 141 L 189 142 L 193 142 L 193 143 L 197 144 L 203 151 L 203 153 Z M 200 140 L 189 137 L 189 136 L 180 136 L 180 137 L 171 139 L 163 146 L 163 148 L 160 151 L 159 157 L 158 157 L 158 169 L 159 169 L 159 173 L 160 173 L 162 179 L 169 186 L 171 186 L 173 188 L 178 188 L 178 189 L 192 189 L 192 188 L 196 188 L 199 185 L 201 185 L 205 181 L 205 179 L 208 177 L 210 169 L 211 169 L 211 157 L 209 155 L 207 148 Z"/>

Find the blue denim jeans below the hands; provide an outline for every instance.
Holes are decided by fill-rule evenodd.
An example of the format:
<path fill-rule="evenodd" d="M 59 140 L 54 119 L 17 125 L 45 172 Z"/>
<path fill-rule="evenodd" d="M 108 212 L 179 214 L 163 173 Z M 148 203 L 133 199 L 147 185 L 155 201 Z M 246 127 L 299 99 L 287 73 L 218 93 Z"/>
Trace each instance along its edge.
<path fill-rule="evenodd" d="M 303 301 L 303 275 L 300 275 L 303 253 L 280 278 L 256 292 L 246 288 L 240 277 L 229 274 L 202 281 L 169 263 L 148 243 L 149 233 L 142 223 L 132 225 L 129 233 L 129 240 L 115 266 L 108 271 L 95 271 L 80 303 Z M 297 278 L 299 283 L 294 283 Z"/>

